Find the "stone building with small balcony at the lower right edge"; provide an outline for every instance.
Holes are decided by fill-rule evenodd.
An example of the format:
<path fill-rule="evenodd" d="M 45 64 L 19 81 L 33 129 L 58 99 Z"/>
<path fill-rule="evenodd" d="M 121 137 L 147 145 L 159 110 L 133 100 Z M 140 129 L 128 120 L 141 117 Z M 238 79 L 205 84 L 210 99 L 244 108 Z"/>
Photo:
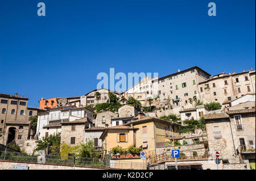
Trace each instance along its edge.
<path fill-rule="evenodd" d="M 224 164 L 255 164 L 255 108 L 204 116 L 210 152 L 218 151 Z"/>

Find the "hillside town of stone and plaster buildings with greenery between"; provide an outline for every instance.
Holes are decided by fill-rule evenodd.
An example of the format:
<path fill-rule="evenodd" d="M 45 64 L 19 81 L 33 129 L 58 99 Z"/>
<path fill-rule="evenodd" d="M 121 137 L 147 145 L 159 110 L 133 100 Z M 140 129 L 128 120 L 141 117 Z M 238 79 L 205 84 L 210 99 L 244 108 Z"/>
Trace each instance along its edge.
<path fill-rule="evenodd" d="M 211 75 L 194 66 L 144 77 L 124 92 L 42 98 L 38 108 L 18 94 L 0 100 L 1 160 L 22 154 L 32 164 L 43 150 L 49 167 L 70 158 L 96 169 L 214 170 L 218 151 L 220 170 L 255 169 L 253 69 Z"/>

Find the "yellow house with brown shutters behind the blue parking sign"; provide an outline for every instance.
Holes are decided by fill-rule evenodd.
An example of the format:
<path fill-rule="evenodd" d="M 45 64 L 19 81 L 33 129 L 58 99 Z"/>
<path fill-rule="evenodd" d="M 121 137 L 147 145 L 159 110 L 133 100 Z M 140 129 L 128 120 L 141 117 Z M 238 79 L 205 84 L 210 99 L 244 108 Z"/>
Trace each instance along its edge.
<path fill-rule="evenodd" d="M 122 148 L 132 145 L 141 147 L 149 156 L 155 154 L 156 145 L 178 136 L 179 125 L 155 117 L 139 116 L 138 120 L 131 123 L 106 128 L 100 139 L 105 153 L 117 145 Z"/>

